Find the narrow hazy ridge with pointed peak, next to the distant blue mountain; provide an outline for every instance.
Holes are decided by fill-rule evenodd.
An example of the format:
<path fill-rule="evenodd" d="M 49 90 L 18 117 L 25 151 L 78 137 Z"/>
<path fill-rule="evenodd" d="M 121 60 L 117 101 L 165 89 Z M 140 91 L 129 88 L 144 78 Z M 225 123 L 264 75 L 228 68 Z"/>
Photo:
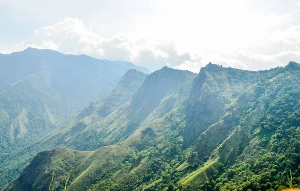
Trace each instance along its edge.
<path fill-rule="evenodd" d="M 100 143 L 96 139 L 103 136 L 103 131 L 98 132 L 94 129 L 107 130 L 107 126 L 110 125 L 110 123 L 106 123 L 107 119 L 110 119 L 109 116 L 117 112 L 132 98 L 146 77 L 147 74 L 137 70 L 128 70 L 106 97 L 91 102 L 88 107 L 73 117 L 64 128 L 46 140 L 42 140 L 42 144 L 46 146 L 55 144 L 53 147 L 64 146 L 83 151 L 99 148 Z M 102 145 L 107 144 L 102 143 Z"/>

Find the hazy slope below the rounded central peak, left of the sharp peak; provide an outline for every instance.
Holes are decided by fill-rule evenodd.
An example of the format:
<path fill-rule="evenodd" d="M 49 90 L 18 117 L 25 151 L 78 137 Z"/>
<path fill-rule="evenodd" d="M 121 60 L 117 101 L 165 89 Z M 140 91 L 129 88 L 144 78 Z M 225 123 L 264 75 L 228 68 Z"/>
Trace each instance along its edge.
<path fill-rule="evenodd" d="M 145 78 L 132 100 L 104 119 L 91 123 L 66 146 L 77 150 L 94 150 L 125 140 L 137 129 L 148 126 L 177 107 L 186 97 L 182 86 L 190 83 L 194 76 L 191 72 L 167 67 L 153 72 Z M 87 144 L 83 145 L 84 142 Z"/>

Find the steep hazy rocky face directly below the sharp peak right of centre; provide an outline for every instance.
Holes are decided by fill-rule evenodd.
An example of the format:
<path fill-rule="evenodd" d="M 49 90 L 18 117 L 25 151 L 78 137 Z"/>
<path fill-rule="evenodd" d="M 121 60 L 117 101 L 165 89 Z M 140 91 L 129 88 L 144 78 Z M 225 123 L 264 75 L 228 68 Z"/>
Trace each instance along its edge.
<path fill-rule="evenodd" d="M 187 126 L 183 133 L 186 144 L 193 144 L 207 127 L 220 119 L 225 106 L 261 77 L 254 71 L 211 63 L 201 68 L 186 101 Z"/>

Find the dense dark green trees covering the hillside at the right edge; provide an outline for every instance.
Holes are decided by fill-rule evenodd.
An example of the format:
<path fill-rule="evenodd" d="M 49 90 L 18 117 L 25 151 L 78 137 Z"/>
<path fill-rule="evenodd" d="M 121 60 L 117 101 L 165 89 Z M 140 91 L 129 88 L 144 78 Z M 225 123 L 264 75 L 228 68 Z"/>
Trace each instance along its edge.
<path fill-rule="evenodd" d="M 263 91 L 263 117 L 254 126 L 249 142 L 256 139 L 257 159 L 245 159 L 242 153 L 215 180 L 214 190 L 277 191 L 286 188 L 286 176 L 292 170 L 294 187 L 300 187 L 300 88 L 299 73 L 278 77 L 276 83 L 259 83 Z M 271 87 L 270 87 L 271 86 Z M 259 92 L 257 92 L 259 93 Z M 250 104 L 255 107 L 254 99 Z M 245 163 L 245 161 L 247 163 Z M 207 189 L 206 189 L 207 190 Z"/>

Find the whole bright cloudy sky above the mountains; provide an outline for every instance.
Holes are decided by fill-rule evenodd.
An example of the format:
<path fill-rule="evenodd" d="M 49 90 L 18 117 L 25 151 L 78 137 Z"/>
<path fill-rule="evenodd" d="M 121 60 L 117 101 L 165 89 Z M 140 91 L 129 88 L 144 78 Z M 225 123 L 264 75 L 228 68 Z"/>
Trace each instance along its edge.
<path fill-rule="evenodd" d="M 300 0 L 0 0 L 0 52 L 26 47 L 198 72 L 300 62 Z"/>

